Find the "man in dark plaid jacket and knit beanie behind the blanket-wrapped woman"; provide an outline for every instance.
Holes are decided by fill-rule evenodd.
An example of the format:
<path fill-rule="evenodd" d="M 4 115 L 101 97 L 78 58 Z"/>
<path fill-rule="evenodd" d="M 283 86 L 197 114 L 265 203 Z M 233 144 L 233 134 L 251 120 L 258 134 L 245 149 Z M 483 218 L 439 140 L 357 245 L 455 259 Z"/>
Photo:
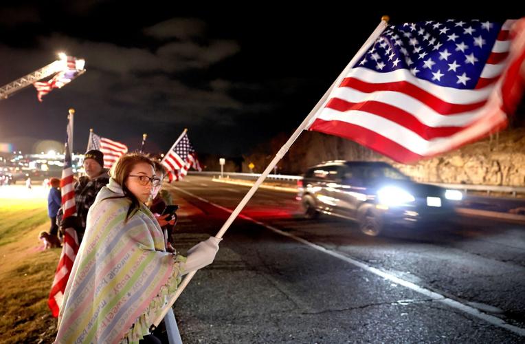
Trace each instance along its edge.
<path fill-rule="evenodd" d="M 59 211 L 58 221 L 60 232 L 66 228 L 75 228 L 78 235 L 78 243 L 82 242 L 86 230 L 87 212 L 95 202 L 98 191 L 109 183 L 108 169 L 104 169 L 104 153 L 91 149 L 85 153 L 82 162 L 86 175 L 78 178 L 74 184 L 76 216 L 69 216 L 62 221 L 62 211 Z"/>

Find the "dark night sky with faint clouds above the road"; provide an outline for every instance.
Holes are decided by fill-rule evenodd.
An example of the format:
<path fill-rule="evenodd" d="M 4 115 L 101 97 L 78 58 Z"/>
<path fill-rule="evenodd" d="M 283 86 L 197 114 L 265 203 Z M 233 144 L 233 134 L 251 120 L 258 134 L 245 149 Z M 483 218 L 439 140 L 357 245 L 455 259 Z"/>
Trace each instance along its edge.
<path fill-rule="evenodd" d="M 70 107 L 78 153 L 89 128 L 131 150 L 148 133 L 152 152 L 168 150 L 188 128 L 197 153 L 249 153 L 298 127 L 383 14 L 393 24 L 525 16 L 524 6 L 460 9 L 454 2 L 405 9 L 394 2 L 367 9 L 326 1 L 296 8 L 40 2 L 1 6 L 0 83 L 52 63 L 62 51 L 85 58 L 87 72 L 43 103 L 34 87 L 0 100 L 0 142 L 25 153 L 43 149 L 41 140 L 64 141 Z"/>

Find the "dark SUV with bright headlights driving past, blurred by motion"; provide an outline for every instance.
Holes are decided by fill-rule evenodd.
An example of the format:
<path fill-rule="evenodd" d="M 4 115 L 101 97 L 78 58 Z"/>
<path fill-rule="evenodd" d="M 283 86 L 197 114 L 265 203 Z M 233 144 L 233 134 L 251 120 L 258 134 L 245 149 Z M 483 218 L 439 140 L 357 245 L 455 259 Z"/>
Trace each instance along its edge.
<path fill-rule="evenodd" d="M 386 162 L 331 161 L 313 166 L 299 182 L 304 215 L 353 219 L 366 235 L 389 225 L 415 226 L 449 219 L 462 193 L 420 184 Z"/>

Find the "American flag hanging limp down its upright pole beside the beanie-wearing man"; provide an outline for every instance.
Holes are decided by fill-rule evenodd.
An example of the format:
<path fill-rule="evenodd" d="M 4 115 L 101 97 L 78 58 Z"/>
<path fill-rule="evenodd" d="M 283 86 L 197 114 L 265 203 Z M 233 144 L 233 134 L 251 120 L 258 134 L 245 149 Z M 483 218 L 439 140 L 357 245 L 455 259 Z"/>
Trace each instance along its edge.
<path fill-rule="evenodd" d="M 73 121 L 71 115 L 69 115 L 67 139 L 65 143 L 64 168 L 62 170 L 62 180 L 60 180 L 63 219 L 71 215 L 76 215 L 75 189 L 70 149 L 72 133 Z M 60 260 L 58 261 L 58 266 L 56 267 L 55 278 L 53 280 L 51 292 L 49 292 L 49 299 L 47 300 L 47 305 L 49 305 L 49 309 L 51 309 L 54 317 L 57 317 L 58 312 L 60 311 L 60 305 L 62 305 L 67 279 L 69 279 L 69 273 L 71 272 L 71 268 L 73 268 L 76 253 L 78 252 L 78 246 L 78 236 L 76 231 L 74 228 L 66 228 L 62 253 L 60 255 Z"/>

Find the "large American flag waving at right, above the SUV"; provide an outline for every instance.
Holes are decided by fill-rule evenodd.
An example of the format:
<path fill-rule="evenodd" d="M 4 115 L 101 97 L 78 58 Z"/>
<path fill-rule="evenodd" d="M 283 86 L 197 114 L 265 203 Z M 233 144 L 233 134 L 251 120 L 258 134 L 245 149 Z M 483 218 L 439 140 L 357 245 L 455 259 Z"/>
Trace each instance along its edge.
<path fill-rule="evenodd" d="M 522 93 L 517 70 L 525 58 L 524 25 L 524 19 L 389 25 L 309 129 L 403 163 L 498 131 Z"/>

